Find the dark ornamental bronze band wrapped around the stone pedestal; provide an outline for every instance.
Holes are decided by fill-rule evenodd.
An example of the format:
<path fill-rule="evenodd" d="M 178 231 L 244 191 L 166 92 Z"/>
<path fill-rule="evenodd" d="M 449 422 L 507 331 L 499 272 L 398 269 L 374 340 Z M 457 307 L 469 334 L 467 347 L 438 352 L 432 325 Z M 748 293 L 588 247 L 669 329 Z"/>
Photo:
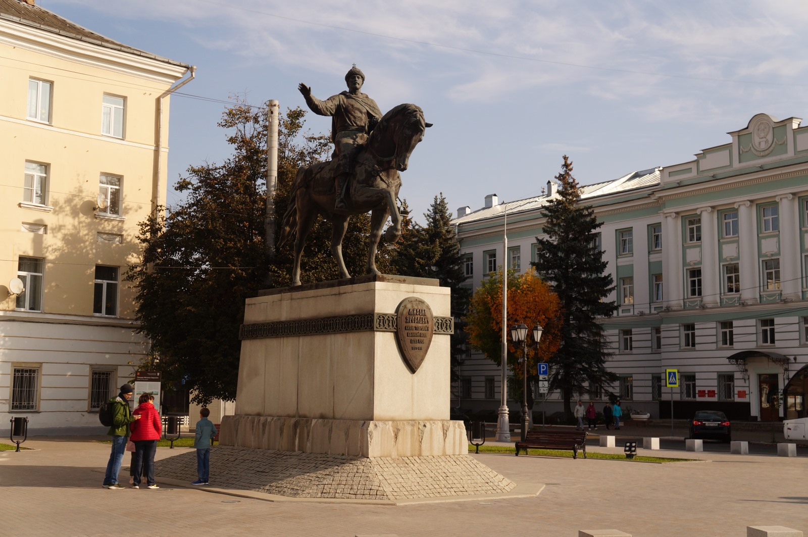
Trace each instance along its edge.
<path fill-rule="evenodd" d="M 452 317 L 436 317 L 433 323 L 436 334 L 451 335 L 454 333 Z M 363 313 L 319 319 L 242 324 L 238 330 L 238 339 L 255 340 L 263 337 L 309 336 L 343 332 L 396 332 L 397 326 L 398 317 L 394 313 Z"/>

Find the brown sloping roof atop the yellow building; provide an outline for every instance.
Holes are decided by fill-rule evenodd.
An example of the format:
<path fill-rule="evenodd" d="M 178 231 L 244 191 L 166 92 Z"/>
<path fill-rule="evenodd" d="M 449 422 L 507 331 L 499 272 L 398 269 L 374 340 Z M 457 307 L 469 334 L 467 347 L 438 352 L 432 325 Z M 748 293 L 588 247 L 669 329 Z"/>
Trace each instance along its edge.
<path fill-rule="evenodd" d="M 109 37 L 102 36 L 86 27 L 69 21 L 44 7 L 36 6 L 24 2 L 23 0 L 0 0 L 0 20 L 9 20 L 15 23 L 36 27 L 45 32 L 53 32 L 60 36 L 70 37 L 97 44 L 107 49 L 116 49 L 124 53 L 137 54 L 157 61 L 164 61 L 175 66 L 188 67 L 186 64 L 161 57 L 156 54 L 147 53 L 144 50 L 134 49 L 126 44 L 119 43 Z"/>

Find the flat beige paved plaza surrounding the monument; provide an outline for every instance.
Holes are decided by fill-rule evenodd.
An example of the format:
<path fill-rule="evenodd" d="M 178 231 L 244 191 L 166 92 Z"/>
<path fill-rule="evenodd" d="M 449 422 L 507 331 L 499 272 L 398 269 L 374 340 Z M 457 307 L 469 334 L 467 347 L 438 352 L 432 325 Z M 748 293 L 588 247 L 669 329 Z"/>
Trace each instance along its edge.
<path fill-rule="evenodd" d="M 698 459 L 651 464 L 470 455 L 517 484 L 544 488 L 534 497 L 377 505 L 267 501 L 266 494 L 223 487 L 215 471 L 206 490 L 167 483 L 158 472 L 159 490 L 112 491 L 99 486 L 108 444 L 32 438 L 23 446 L 35 450 L 0 452 L 0 535 L 574 537 L 583 529 L 616 528 L 633 537 L 741 537 L 747 526 L 808 531 L 804 456 L 641 449 L 641 455 Z M 622 447 L 587 451 L 621 453 Z M 175 455 L 192 450 L 159 448 L 157 458 Z M 193 478 L 191 471 L 186 479 Z"/>

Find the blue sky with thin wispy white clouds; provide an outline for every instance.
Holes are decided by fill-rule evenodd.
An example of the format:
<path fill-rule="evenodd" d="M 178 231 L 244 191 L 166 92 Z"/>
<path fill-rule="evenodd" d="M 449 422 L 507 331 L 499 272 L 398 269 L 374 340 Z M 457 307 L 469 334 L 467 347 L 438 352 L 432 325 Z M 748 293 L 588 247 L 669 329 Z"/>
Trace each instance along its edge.
<path fill-rule="evenodd" d="M 197 67 L 171 99 L 169 205 L 187 167 L 229 155 L 229 97 L 305 108 L 299 82 L 326 99 L 354 63 L 382 112 L 414 103 L 434 124 L 399 194 L 422 223 L 440 192 L 453 212 L 537 196 L 563 154 L 592 184 L 692 160 L 760 112 L 808 117 L 803 0 L 36 2 Z"/>

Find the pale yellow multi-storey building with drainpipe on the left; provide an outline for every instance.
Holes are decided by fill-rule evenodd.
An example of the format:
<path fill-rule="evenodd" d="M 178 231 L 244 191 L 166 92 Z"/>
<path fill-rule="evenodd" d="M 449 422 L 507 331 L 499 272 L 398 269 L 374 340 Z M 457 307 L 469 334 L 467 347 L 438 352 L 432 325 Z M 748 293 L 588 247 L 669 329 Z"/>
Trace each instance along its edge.
<path fill-rule="evenodd" d="M 193 68 L 34 1 L 0 0 L 0 433 L 10 416 L 97 432 L 149 348 L 124 273 L 165 203 L 169 95 Z"/>

